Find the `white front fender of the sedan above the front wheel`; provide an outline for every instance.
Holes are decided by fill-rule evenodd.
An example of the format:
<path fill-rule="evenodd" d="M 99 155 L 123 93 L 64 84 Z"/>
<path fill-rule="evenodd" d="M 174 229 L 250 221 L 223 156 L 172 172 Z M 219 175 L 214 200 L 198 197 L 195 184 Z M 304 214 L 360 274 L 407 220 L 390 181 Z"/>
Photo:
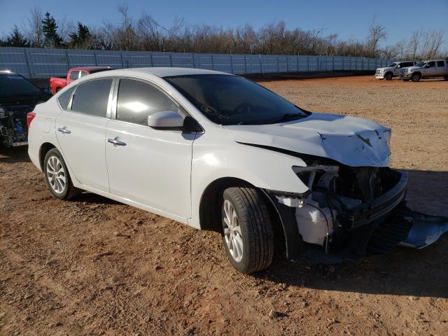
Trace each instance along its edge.
<path fill-rule="evenodd" d="M 207 187 L 223 178 L 235 178 L 264 190 L 306 193 L 293 166 L 306 167 L 292 155 L 265 148 L 238 144 L 228 139 L 225 130 L 200 134 L 193 143 L 191 167 L 192 218 L 188 224 L 200 228 L 200 202 Z"/>

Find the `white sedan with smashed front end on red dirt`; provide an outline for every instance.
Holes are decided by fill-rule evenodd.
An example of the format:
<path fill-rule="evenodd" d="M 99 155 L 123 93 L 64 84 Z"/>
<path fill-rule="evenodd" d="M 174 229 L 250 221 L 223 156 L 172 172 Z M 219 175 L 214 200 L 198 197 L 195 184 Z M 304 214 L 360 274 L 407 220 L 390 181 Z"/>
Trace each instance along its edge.
<path fill-rule="evenodd" d="M 240 272 L 269 267 L 276 231 L 288 258 L 337 262 L 421 248 L 447 230 L 405 207 L 391 130 L 304 111 L 228 73 L 95 73 L 29 120 L 29 156 L 55 197 L 88 190 L 221 232 Z"/>

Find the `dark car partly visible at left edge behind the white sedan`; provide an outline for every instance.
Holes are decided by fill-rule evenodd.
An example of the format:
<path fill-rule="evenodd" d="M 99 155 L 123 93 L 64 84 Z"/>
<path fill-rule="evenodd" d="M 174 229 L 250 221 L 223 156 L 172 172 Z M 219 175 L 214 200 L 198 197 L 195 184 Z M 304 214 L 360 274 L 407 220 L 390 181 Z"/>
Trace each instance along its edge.
<path fill-rule="evenodd" d="M 27 145 L 27 113 L 50 97 L 18 73 L 0 71 L 0 146 Z"/>

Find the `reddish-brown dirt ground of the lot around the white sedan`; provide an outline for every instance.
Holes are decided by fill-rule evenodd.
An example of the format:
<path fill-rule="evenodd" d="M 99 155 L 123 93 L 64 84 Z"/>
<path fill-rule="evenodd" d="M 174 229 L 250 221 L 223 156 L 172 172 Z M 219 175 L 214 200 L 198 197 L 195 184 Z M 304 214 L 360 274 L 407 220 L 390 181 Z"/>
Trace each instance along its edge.
<path fill-rule="evenodd" d="M 448 216 L 448 81 L 262 84 L 391 127 L 409 205 Z M 0 335 L 448 335 L 448 235 L 357 265 L 280 256 L 246 276 L 214 232 L 89 193 L 56 200 L 26 148 L 0 152 L 0 190 Z"/>

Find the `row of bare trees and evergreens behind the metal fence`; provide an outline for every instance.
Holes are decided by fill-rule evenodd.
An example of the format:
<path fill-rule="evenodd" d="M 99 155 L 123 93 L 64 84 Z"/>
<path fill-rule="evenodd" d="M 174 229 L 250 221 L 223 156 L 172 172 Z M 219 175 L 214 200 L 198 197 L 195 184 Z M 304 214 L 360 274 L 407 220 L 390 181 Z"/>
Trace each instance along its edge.
<path fill-rule="evenodd" d="M 127 6 L 118 6 L 119 23 L 105 21 L 101 27 L 76 25 L 66 19 L 55 20 L 49 12 L 34 7 L 22 28 L 13 27 L 0 39 L 2 46 L 71 48 L 92 50 L 137 50 L 205 52 L 262 55 L 328 55 L 380 57 L 386 59 L 430 59 L 447 57 L 442 50 L 443 31 L 412 31 L 395 45 L 381 46 L 386 28 L 374 17 L 363 41 L 343 40 L 325 29 L 288 29 L 283 21 L 260 29 L 251 25 L 223 28 L 215 25 L 189 25 L 176 18 L 164 27 L 151 15 L 132 18 Z"/>

